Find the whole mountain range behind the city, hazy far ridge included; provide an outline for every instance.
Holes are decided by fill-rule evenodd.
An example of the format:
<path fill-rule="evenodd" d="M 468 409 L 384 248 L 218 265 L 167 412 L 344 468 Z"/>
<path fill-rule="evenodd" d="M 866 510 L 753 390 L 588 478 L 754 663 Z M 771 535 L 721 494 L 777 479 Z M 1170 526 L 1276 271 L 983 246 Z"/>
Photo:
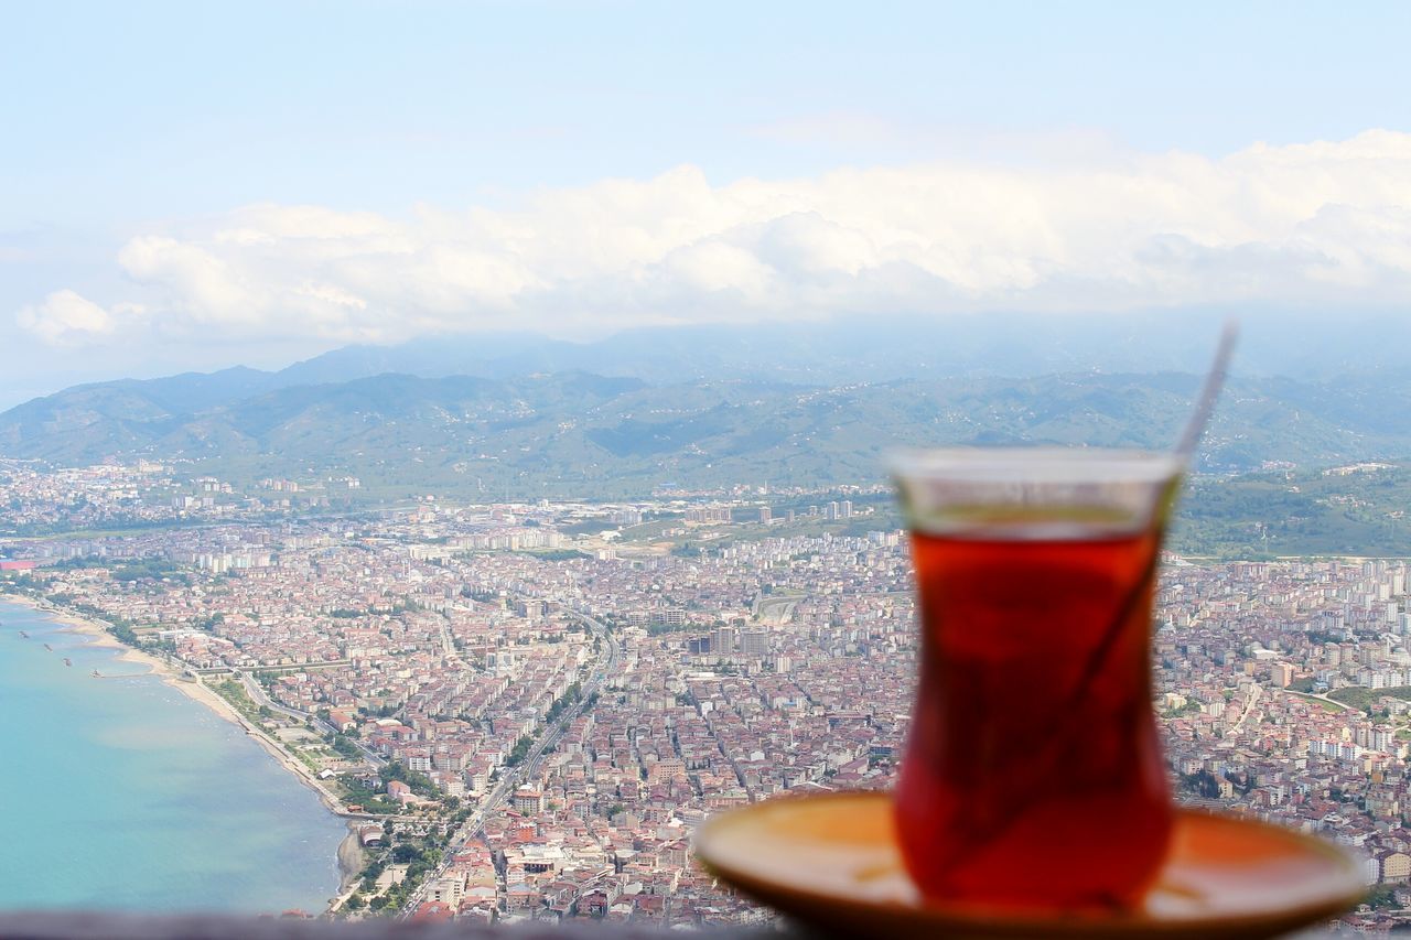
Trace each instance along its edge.
<path fill-rule="evenodd" d="M 0 454 L 353 473 L 394 491 L 861 483 L 880 478 L 880 454 L 897 443 L 1167 446 L 1218 325 L 1215 312 L 1192 319 L 796 323 L 597 343 L 494 335 L 346 347 L 272 373 L 236 367 L 37 398 L 0 414 Z M 1315 326 L 1253 319 L 1204 469 L 1411 456 L 1411 368 L 1395 342 L 1407 327 Z"/>

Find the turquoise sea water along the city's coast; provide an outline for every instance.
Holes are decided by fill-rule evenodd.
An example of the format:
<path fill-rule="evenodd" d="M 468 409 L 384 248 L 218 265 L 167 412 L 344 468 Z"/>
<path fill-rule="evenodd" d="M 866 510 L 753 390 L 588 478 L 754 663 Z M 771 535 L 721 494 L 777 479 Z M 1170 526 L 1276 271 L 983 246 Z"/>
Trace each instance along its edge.
<path fill-rule="evenodd" d="M 0 909 L 322 912 L 343 823 L 117 655 L 0 600 Z"/>

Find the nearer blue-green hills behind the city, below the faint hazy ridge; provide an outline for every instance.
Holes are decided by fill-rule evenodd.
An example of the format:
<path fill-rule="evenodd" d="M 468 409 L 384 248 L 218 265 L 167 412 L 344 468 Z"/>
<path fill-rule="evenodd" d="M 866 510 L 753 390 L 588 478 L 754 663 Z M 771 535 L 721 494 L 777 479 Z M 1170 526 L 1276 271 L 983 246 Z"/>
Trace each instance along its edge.
<path fill-rule="evenodd" d="M 501 343 L 497 354 L 511 346 Z M 442 353 L 450 367 L 453 351 Z M 552 358 L 553 350 L 526 342 L 521 353 Z M 0 414 L 0 454 L 58 464 L 186 459 L 234 480 L 349 473 L 368 493 L 388 495 L 868 483 L 882 478 L 883 454 L 896 445 L 1164 447 L 1199 381 L 1182 371 L 704 378 L 683 366 L 694 361 L 684 351 L 663 360 L 663 371 L 667 361 L 679 364 L 673 381 L 581 370 L 358 375 L 416 357 L 420 371 L 439 371 L 436 350 L 412 346 L 350 349 L 281 373 L 230 368 L 79 385 Z M 483 371 L 514 370 L 505 360 Z M 1270 462 L 1405 457 L 1408 414 L 1411 373 L 1236 377 L 1199 466 L 1242 473 Z"/>

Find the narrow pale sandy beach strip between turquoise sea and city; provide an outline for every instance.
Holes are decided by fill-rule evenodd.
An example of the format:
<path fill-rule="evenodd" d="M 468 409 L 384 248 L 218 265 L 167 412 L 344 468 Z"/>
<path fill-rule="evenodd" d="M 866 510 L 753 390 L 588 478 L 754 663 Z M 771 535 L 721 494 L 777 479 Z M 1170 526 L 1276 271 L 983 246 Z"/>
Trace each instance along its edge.
<path fill-rule="evenodd" d="M 89 638 L 95 646 L 119 651 L 117 659 L 120 662 L 147 666 L 148 670 L 157 675 L 165 685 L 176 689 L 192 701 L 199 701 L 205 707 L 210 709 L 210 711 L 213 711 L 217 717 L 240 725 L 246 735 L 264 748 L 265 752 L 279 764 L 279 766 L 292 773 L 301 783 L 312 789 L 329 813 L 347 820 L 349 833 L 339 843 L 337 850 L 340 899 L 344 893 L 347 893 L 350 885 L 357 878 L 357 872 L 363 869 L 364 864 L 363 845 L 358 841 L 356 828 L 357 820 L 349 819 L 350 813 L 343 802 L 334 796 L 308 766 L 305 766 L 298 758 L 291 757 L 272 737 L 264 731 L 264 728 L 258 728 L 251 724 L 246 716 L 240 714 L 233 704 L 220 697 L 214 690 L 209 689 L 199 677 L 186 676 L 171 662 L 128 646 L 110 634 L 107 627 L 96 620 L 65 610 L 51 604 L 49 601 L 38 601 L 32 597 L 24 597 L 20 594 L 0 594 L 0 598 L 24 604 L 25 607 L 31 607 L 48 615 L 55 622 L 62 624 L 68 632 L 82 634 Z"/>

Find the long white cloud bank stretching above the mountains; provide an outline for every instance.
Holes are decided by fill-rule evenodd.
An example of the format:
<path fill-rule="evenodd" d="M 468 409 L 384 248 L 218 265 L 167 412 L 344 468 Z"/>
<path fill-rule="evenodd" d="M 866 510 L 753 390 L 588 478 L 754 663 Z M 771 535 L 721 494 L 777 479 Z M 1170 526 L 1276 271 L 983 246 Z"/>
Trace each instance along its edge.
<path fill-rule="evenodd" d="M 127 295 L 56 289 L 18 323 L 54 344 L 392 342 L 880 312 L 1391 306 L 1411 302 L 1411 134 L 724 185 L 680 167 L 406 217 L 255 205 L 134 234 L 116 264 Z"/>

